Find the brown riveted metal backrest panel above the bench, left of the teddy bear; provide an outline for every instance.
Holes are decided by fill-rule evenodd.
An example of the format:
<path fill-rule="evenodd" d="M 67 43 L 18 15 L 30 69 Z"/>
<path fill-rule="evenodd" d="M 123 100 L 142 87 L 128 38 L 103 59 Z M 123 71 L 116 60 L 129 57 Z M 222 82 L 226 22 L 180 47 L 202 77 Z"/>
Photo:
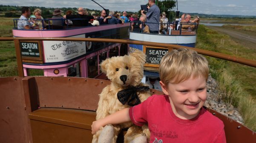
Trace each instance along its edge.
<path fill-rule="evenodd" d="M 96 110 L 98 94 L 108 80 L 75 77 L 35 77 L 40 107 Z"/>

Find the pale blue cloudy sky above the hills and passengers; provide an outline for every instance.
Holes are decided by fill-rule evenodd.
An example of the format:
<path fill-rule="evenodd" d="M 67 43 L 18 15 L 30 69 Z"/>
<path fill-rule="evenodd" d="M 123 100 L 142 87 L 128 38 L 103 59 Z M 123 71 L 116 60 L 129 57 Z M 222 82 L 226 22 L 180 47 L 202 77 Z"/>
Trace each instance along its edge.
<path fill-rule="evenodd" d="M 110 11 L 139 11 L 148 0 L 94 0 Z M 256 16 L 256 0 L 177 0 L 184 13 Z M 51 8 L 84 7 L 101 10 L 92 0 L 0 0 L 1 5 L 40 6 Z M 174 11 L 177 8 L 173 8 Z"/>

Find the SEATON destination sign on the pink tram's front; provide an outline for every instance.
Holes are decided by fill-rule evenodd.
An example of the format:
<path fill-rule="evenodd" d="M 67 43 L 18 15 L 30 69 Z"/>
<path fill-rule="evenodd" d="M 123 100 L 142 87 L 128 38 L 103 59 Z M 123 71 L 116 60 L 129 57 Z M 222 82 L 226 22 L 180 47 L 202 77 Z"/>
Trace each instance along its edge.
<path fill-rule="evenodd" d="M 25 57 L 40 57 L 38 42 L 20 41 L 21 55 Z"/>

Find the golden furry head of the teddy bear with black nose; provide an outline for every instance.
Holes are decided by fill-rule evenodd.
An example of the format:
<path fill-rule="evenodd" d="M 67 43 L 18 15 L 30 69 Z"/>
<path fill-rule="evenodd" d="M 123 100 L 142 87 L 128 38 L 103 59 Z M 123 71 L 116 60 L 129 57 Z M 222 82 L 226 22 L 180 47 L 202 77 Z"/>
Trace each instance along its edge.
<path fill-rule="evenodd" d="M 137 50 L 129 55 L 112 57 L 101 63 L 101 70 L 115 86 L 136 86 L 143 78 L 146 55 Z"/>

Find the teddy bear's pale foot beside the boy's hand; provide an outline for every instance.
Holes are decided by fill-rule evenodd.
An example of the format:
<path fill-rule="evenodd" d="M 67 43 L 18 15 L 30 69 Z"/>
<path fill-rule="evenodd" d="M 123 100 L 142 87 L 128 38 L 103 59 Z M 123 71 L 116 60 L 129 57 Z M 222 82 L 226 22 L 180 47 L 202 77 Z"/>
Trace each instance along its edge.
<path fill-rule="evenodd" d="M 98 143 L 112 143 L 114 139 L 114 126 L 108 124 L 104 126 L 99 136 Z"/>

